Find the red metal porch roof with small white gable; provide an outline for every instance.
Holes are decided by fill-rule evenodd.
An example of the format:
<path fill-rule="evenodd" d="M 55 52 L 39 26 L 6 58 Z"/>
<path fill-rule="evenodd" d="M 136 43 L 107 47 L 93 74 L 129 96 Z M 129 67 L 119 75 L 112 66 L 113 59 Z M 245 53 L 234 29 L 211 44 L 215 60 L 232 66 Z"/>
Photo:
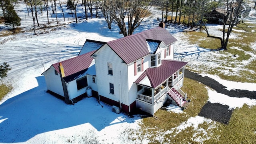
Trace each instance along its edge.
<path fill-rule="evenodd" d="M 156 88 L 187 63 L 177 60 L 162 60 L 161 66 L 146 69 L 134 83 Z"/>

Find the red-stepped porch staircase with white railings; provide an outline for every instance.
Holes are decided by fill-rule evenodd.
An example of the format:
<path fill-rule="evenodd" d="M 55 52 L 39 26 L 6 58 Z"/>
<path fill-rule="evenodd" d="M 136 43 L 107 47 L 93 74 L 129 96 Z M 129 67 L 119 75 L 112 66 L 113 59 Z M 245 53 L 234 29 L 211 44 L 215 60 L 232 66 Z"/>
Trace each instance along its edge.
<path fill-rule="evenodd" d="M 178 90 L 176 90 L 174 87 L 171 88 L 167 94 L 172 98 L 172 100 L 174 100 L 174 102 L 176 102 L 178 106 L 183 106 L 183 104 L 186 103 L 184 96 L 182 96 L 182 94 L 180 94 L 180 92 L 178 92 Z"/>

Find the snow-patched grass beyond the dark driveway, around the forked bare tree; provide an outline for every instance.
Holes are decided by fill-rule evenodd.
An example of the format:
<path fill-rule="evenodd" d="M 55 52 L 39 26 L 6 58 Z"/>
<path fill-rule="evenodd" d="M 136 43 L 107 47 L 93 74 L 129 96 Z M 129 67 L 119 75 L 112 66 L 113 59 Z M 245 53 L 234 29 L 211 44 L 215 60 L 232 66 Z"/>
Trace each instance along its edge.
<path fill-rule="evenodd" d="M 240 30 L 240 31 L 236 31 Z M 242 31 L 241 31 L 242 30 Z M 256 83 L 256 59 L 252 60 L 251 54 L 256 54 L 256 50 L 252 49 L 252 44 L 256 41 L 256 24 L 238 24 L 233 28 L 232 34 L 236 34 L 239 39 L 228 40 L 228 48 L 224 51 L 219 51 L 220 56 L 212 58 L 209 61 L 216 62 L 216 66 L 211 68 L 209 66 L 188 67 L 189 70 L 199 73 L 208 73 L 220 76 L 225 80 L 232 80 L 237 82 L 254 82 Z M 188 42 L 196 44 L 202 48 L 217 49 L 220 48 L 220 40 L 208 38 L 204 32 L 186 32 Z M 233 48 L 232 48 L 233 47 Z M 240 49 L 236 49 L 238 47 Z M 235 58 L 233 56 L 236 56 Z M 244 66 L 242 62 L 250 62 Z M 240 67 L 240 71 L 234 73 L 232 68 Z M 244 68 L 244 69 L 243 69 Z M 227 71 L 230 75 L 223 73 Z"/>

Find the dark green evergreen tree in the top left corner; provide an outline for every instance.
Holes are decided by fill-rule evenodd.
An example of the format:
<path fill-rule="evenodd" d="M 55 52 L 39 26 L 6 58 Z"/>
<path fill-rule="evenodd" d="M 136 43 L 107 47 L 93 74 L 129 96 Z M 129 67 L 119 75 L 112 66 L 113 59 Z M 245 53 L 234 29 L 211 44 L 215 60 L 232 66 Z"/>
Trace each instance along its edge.
<path fill-rule="evenodd" d="M 6 25 L 10 25 L 14 28 L 14 26 L 20 26 L 20 17 L 18 16 L 18 14 L 16 13 L 16 11 L 14 10 L 14 6 L 11 4 L 10 0 L 4 0 L 4 9 L 5 9 L 5 13 L 4 13 L 4 19 L 5 24 Z"/>

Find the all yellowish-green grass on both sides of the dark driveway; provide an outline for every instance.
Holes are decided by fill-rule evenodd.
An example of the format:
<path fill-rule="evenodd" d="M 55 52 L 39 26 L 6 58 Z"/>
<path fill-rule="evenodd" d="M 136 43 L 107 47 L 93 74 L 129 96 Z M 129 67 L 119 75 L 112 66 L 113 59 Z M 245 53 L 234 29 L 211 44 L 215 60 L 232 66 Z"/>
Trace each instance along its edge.
<path fill-rule="evenodd" d="M 253 82 L 256 83 L 256 58 L 252 59 L 251 54 L 256 54 L 256 51 L 250 48 L 252 43 L 256 40 L 256 24 L 239 24 L 234 27 L 232 34 L 239 36 L 239 40 L 230 39 L 228 43 L 228 50 L 218 51 L 220 56 L 210 59 L 216 62 L 216 67 L 209 67 L 200 65 L 196 69 L 194 66 L 188 65 L 187 68 L 193 72 L 208 73 L 218 75 L 225 80 L 232 80 L 238 82 Z M 190 44 L 197 44 L 203 48 L 217 49 L 220 48 L 220 40 L 214 38 L 207 38 L 203 32 L 186 32 Z M 231 47 L 238 47 L 234 49 Z M 233 57 L 232 55 L 236 55 Z M 243 65 L 243 61 L 250 60 L 249 64 Z M 233 68 L 241 67 L 241 70 L 235 74 Z M 224 73 L 229 72 L 230 75 Z M 202 106 L 208 100 L 208 92 L 203 84 L 194 80 L 185 78 L 184 92 L 187 92 L 188 98 L 192 99 L 190 104 L 186 107 L 186 113 L 173 113 L 166 110 L 158 110 L 154 117 L 143 119 L 140 130 L 140 138 L 145 136 L 151 143 L 169 143 L 169 144 L 200 144 L 196 138 L 203 140 L 204 144 L 255 144 L 256 143 L 256 106 L 248 106 L 244 104 L 242 108 L 236 108 L 232 113 L 228 125 L 219 122 L 204 122 L 198 125 L 198 128 L 190 126 L 184 130 L 177 131 L 175 128 L 186 122 L 188 118 L 198 116 Z M 170 132 L 165 134 L 165 132 Z M 158 140 L 159 136 L 163 140 Z"/>

